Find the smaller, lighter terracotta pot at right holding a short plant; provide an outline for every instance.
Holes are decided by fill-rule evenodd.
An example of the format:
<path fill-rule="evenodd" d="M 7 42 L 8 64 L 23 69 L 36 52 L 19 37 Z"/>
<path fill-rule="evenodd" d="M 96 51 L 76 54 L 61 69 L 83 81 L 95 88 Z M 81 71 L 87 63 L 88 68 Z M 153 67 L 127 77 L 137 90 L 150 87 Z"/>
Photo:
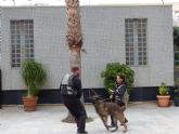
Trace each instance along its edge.
<path fill-rule="evenodd" d="M 170 95 L 157 95 L 157 104 L 159 107 L 168 107 Z"/>

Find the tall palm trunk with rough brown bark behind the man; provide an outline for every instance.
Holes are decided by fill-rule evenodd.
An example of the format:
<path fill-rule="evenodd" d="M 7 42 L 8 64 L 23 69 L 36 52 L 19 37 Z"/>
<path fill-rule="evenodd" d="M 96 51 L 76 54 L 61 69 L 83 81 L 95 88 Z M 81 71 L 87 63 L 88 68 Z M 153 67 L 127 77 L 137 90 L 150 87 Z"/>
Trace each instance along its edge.
<path fill-rule="evenodd" d="M 81 46 L 82 36 L 79 14 L 79 0 L 65 0 L 67 16 L 67 36 L 66 41 L 69 48 L 69 66 L 78 66 L 81 69 Z M 67 115 L 65 122 L 74 122 L 71 113 Z"/>

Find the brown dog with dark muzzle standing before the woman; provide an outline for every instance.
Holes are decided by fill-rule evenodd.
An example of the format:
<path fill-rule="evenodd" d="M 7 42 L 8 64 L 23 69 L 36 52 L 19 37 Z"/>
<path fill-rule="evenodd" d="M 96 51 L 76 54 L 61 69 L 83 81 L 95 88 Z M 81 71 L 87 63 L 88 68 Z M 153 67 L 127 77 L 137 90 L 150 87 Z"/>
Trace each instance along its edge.
<path fill-rule="evenodd" d="M 115 103 L 106 103 L 100 99 L 100 97 L 98 96 L 92 96 L 92 104 L 107 131 L 110 130 L 110 126 L 107 125 L 108 116 L 113 116 L 115 121 L 115 130 L 111 132 L 117 131 L 118 129 L 117 121 L 119 121 L 120 124 L 125 128 L 123 132 L 125 133 L 127 131 L 127 125 L 125 123 L 125 115 L 124 115 L 125 107 L 119 107 Z"/>

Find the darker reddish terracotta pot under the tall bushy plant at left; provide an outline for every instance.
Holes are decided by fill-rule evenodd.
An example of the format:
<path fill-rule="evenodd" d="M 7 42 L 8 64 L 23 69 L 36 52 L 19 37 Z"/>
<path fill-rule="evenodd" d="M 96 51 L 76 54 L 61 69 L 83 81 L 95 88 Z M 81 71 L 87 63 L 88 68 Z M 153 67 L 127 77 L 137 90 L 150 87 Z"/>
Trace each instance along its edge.
<path fill-rule="evenodd" d="M 24 110 L 25 111 L 35 111 L 37 106 L 38 97 L 23 97 Z"/>

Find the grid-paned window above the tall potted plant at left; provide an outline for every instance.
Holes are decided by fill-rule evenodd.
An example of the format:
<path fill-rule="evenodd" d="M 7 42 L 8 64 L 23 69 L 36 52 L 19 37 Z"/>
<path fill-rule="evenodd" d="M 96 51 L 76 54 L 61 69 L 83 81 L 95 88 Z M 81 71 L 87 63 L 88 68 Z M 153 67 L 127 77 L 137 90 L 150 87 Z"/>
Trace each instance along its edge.
<path fill-rule="evenodd" d="M 20 67 L 24 59 L 34 58 L 34 22 L 11 21 L 11 66 Z"/>

